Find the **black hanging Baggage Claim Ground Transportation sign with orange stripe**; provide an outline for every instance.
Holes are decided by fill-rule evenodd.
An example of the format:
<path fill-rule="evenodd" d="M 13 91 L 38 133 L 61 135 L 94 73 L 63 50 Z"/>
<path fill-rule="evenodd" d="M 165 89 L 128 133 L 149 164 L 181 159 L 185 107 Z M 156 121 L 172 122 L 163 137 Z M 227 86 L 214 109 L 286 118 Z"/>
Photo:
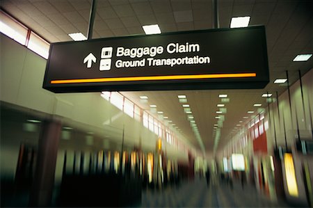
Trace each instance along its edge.
<path fill-rule="evenodd" d="M 43 88 L 264 88 L 268 80 L 265 29 L 251 26 L 52 43 Z"/>

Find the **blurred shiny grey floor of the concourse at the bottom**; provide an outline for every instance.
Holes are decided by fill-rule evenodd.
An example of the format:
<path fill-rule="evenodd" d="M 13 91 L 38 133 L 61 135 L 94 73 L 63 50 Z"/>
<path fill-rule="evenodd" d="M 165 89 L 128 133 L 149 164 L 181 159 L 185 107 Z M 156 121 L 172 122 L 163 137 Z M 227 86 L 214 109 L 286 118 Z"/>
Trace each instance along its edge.
<path fill-rule="evenodd" d="M 141 207 L 291 207 L 286 202 L 270 200 L 254 186 L 234 182 L 233 186 L 205 179 L 182 183 L 162 191 L 143 191 Z"/>

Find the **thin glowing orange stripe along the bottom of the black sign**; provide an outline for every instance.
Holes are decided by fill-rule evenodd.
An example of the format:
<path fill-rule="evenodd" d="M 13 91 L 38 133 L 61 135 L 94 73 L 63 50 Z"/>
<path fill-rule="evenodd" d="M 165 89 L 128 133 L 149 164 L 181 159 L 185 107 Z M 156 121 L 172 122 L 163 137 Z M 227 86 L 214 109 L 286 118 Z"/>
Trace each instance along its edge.
<path fill-rule="evenodd" d="M 196 74 L 196 75 L 151 76 L 151 77 L 112 77 L 112 78 L 95 78 L 95 79 L 64 79 L 64 80 L 52 80 L 50 83 L 94 83 L 94 82 L 111 82 L 111 81 L 153 81 L 153 80 L 215 79 L 215 78 L 241 78 L 241 77 L 257 77 L 257 74 L 256 73 Z"/>

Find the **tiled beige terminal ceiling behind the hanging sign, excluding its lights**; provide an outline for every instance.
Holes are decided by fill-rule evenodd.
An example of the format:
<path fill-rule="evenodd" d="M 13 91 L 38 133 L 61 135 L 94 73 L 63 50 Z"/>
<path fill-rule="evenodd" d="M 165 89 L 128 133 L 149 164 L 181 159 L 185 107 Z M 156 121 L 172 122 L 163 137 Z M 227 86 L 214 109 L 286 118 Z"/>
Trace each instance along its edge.
<path fill-rule="evenodd" d="M 81 32 L 87 36 L 91 0 L 1 0 L 1 9 L 12 15 L 48 42 L 72 40 L 67 34 Z M 312 1 L 275 0 L 220 0 L 218 1 L 220 28 L 229 28 L 230 19 L 250 16 L 249 25 L 265 25 L 268 49 L 270 83 L 260 90 L 186 90 L 186 91 L 141 91 L 123 92 L 143 109 L 150 110 L 150 104 L 157 105 L 179 129 L 177 131 L 195 148 L 210 153 L 214 149 L 214 125 L 217 124 L 216 104 L 218 95 L 227 94 L 230 102 L 225 103 L 227 113 L 220 128 L 220 142 L 217 150 L 232 138 L 236 125 L 248 122 L 243 119 L 247 111 L 255 111 L 255 103 L 266 108 L 262 93 L 278 94 L 287 90 L 286 84 L 273 81 L 286 77 L 289 82 L 298 79 L 298 70 L 305 74 L 313 67 L 313 58 L 295 63 L 297 54 L 313 52 L 313 3 Z M 163 33 L 172 31 L 193 31 L 212 28 L 212 2 L 210 0 L 98 0 L 93 38 L 108 38 L 123 35 L 143 34 L 143 25 L 159 24 Z M 149 97 L 142 102 L 140 95 Z M 177 95 L 186 95 L 193 112 L 202 141 L 191 128 L 182 103 Z M 157 113 L 155 113 L 157 116 Z M 250 116 L 249 116 L 250 118 Z M 232 132 L 232 134 L 231 134 Z"/>

